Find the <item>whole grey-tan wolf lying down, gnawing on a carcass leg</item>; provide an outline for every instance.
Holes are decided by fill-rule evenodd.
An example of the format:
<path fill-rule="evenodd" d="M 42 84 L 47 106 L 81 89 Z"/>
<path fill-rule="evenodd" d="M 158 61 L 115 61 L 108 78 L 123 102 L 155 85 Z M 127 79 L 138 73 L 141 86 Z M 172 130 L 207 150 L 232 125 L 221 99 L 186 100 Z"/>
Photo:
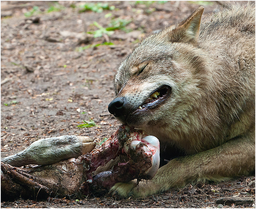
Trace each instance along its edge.
<path fill-rule="evenodd" d="M 203 11 L 146 37 L 120 64 L 109 112 L 157 137 L 170 161 L 110 193 L 146 197 L 255 172 L 255 6 L 201 22 Z"/>

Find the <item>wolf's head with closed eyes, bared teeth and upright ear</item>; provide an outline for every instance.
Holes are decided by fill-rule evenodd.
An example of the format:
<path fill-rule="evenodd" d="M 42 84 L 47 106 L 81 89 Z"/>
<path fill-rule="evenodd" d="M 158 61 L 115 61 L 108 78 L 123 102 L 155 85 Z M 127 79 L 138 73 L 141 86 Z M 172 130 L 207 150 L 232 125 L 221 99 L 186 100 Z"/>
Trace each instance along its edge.
<path fill-rule="evenodd" d="M 144 130 L 176 126 L 191 110 L 204 86 L 197 44 L 203 11 L 145 38 L 121 63 L 108 107 L 120 122 Z"/>

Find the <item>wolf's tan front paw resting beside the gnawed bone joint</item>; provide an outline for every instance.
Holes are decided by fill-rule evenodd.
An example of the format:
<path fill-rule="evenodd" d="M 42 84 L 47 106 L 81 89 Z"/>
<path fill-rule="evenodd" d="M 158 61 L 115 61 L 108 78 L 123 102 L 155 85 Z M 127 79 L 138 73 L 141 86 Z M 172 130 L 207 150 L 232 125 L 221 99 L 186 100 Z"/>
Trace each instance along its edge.
<path fill-rule="evenodd" d="M 140 182 L 137 186 L 136 181 L 128 183 L 116 183 L 109 191 L 109 194 L 118 195 L 120 197 L 147 197 L 152 194 L 159 193 L 161 187 L 152 181 Z"/>

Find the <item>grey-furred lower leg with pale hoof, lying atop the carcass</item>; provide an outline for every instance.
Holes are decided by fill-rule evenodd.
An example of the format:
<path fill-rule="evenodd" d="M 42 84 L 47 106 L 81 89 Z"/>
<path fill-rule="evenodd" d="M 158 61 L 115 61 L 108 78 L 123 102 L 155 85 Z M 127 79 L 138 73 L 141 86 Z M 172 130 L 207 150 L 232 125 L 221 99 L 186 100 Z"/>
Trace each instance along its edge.
<path fill-rule="evenodd" d="M 95 141 L 87 136 L 49 137 L 34 141 L 25 150 L 4 157 L 1 161 L 14 167 L 28 164 L 48 165 L 91 152 L 95 145 Z"/>

